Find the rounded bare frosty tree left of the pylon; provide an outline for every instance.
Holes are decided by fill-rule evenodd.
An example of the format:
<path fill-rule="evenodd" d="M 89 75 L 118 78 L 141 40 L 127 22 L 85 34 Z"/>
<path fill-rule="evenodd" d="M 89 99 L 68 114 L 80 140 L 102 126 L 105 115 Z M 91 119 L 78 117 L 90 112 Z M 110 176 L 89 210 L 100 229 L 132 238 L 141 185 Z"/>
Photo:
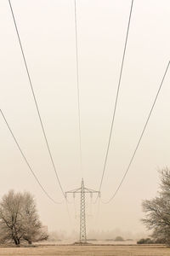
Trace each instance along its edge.
<path fill-rule="evenodd" d="M 20 242 L 46 240 L 48 235 L 42 231 L 37 215 L 36 203 L 28 193 L 14 193 L 10 190 L 0 202 L 0 241 L 20 246 Z"/>

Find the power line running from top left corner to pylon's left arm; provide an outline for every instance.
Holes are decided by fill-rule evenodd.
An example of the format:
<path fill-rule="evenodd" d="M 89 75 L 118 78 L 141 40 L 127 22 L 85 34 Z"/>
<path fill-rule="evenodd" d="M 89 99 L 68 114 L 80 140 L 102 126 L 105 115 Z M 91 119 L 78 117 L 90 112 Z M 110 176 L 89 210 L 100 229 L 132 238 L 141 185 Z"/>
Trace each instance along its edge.
<path fill-rule="evenodd" d="M 17 26 L 17 24 L 16 24 L 16 20 L 15 20 L 15 17 L 14 17 L 14 10 L 13 10 L 13 7 L 12 7 L 12 4 L 11 4 L 11 1 L 10 1 L 10 0 L 8 0 L 8 3 L 9 3 L 9 7 L 10 7 L 10 10 L 11 10 L 11 13 L 12 13 L 12 16 L 13 16 L 14 27 L 15 27 L 15 30 L 16 30 L 16 33 L 17 33 L 17 37 L 18 37 L 18 40 L 19 40 L 19 43 L 20 43 L 20 50 L 21 50 L 21 53 L 22 53 L 22 56 L 23 56 L 23 60 L 24 60 L 25 67 L 26 67 L 26 73 L 27 73 L 27 76 L 28 76 L 28 79 L 29 79 L 29 83 L 30 83 L 30 86 L 31 86 L 32 96 L 33 96 L 33 99 L 34 99 L 34 102 L 35 102 L 35 105 L 36 105 L 36 108 L 37 108 L 37 114 L 38 114 L 38 117 L 39 117 L 39 120 L 40 120 L 40 124 L 41 124 L 41 126 L 42 126 L 43 137 L 44 137 L 45 142 L 46 142 L 46 144 L 47 144 L 48 154 L 49 154 L 50 160 L 51 160 L 51 162 L 52 162 L 52 166 L 53 166 L 53 168 L 54 168 L 55 176 L 56 176 L 56 178 L 57 178 L 57 180 L 58 180 L 59 187 L 60 187 L 60 189 L 61 189 L 62 194 L 63 194 L 64 197 L 65 197 L 65 192 L 64 192 L 64 189 L 63 189 L 62 186 L 61 186 L 61 183 L 60 183 L 60 180 L 59 180 L 59 176 L 58 176 L 56 167 L 55 167 L 55 165 L 54 165 L 53 155 L 52 155 L 51 150 L 50 150 L 50 148 L 49 148 L 48 138 L 47 138 L 47 136 L 46 136 L 46 132 L 45 132 L 45 129 L 44 129 L 44 126 L 43 126 L 43 123 L 42 123 L 42 117 L 41 117 L 41 114 L 40 114 L 40 110 L 39 110 L 39 108 L 38 108 L 37 98 L 36 98 L 36 95 L 35 95 L 35 92 L 34 92 L 34 89 L 33 89 L 33 85 L 32 85 L 32 82 L 31 82 L 31 75 L 30 75 L 30 73 L 29 73 L 28 65 L 27 65 L 27 62 L 26 62 L 26 56 L 25 56 L 24 49 L 23 49 L 23 46 L 22 46 L 22 43 L 21 43 L 21 40 L 20 40 L 20 33 L 19 33 L 18 26 Z"/>

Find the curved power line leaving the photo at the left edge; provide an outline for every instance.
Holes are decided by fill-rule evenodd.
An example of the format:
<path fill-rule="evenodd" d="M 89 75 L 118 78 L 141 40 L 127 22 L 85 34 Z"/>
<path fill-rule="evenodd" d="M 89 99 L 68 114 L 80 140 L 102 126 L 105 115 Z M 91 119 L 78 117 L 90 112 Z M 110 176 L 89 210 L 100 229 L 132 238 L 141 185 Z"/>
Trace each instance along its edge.
<path fill-rule="evenodd" d="M 35 179 L 37 180 L 37 183 L 39 184 L 39 186 L 41 187 L 41 189 L 43 190 L 43 192 L 45 193 L 45 195 L 47 195 L 47 196 L 48 196 L 48 199 L 50 199 L 51 201 L 53 201 L 55 204 L 60 204 L 60 203 L 62 203 L 62 202 L 54 201 L 54 199 L 53 199 L 50 195 L 48 195 L 48 192 L 43 188 L 42 184 L 40 183 L 39 179 L 37 178 L 37 175 L 35 174 L 35 172 L 34 172 L 33 169 L 31 168 L 31 166 L 30 166 L 28 160 L 26 159 L 26 155 L 23 153 L 22 149 L 20 148 L 20 144 L 18 143 L 16 137 L 14 136 L 14 132 L 12 131 L 11 127 L 9 126 L 8 121 L 7 121 L 7 119 L 5 118 L 5 116 L 4 116 L 4 114 L 3 114 L 3 111 L 2 111 L 1 109 L 0 109 L 0 112 L 1 112 L 1 114 L 2 114 L 2 116 L 3 116 L 3 120 L 4 120 L 5 124 L 6 124 L 7 127 L 8 127 L 8 131 L 10 131 L 10 134 L 11 134 L 12 137 L 14 138 L 14 142 L 16 143 L 17 147 L 18 147 L 19 150 L 20 150 L 20 154 L 22 155 L 22 157 L 23 157 L 24 160 L 26 161 L 26 165 L 27 165 L 28 168 L 30 169 L 30 171 L 31 171 L 31 173 L 32 173 L 32 175 L 33 175 L 33 177 L 35 177 Z"/>

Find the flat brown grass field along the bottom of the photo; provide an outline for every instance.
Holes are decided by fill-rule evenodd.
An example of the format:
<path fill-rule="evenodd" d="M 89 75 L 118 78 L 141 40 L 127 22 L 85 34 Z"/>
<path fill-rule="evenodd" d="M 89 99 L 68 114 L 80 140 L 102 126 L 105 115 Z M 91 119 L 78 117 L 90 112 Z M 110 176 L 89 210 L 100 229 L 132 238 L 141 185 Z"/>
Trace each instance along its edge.
<path fill-rule="evenodd" d="M 170 256 L 165 246 L 42 246 L 0 247 L 0 255 L 14 256 Z"/>

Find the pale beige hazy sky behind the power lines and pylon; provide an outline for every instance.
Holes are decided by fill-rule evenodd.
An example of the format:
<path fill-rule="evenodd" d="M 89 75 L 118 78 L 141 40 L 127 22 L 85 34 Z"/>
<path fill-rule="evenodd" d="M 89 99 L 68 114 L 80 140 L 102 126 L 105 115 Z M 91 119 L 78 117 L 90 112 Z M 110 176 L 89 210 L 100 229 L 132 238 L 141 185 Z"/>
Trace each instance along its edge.
<path fill-rule="evenodd" d="M 65 190 L 80 187 L 74 1 L 11 3 L 59 178 Z M 91 189 L 99 189 L 104 166 L 130 4 L 77 0 L 82 165 Z M 134 0 L 131 22 L 103 200 L 125 172 L 170 57 L 169 0 Z M 0 108 L 42 185 L 60 201 L 8 0 L 0 0 L 0 37 Z M 170 166 L 169 84 L 170 72 L 122 189 L 111 204 L 100 205 L 98 222 L 95 214 L 87 218 L 88 230 L 144 230 L 141 201 L 156 195 L 157 169 Z M 54 205 L 38 187 L 1 117 L 0 141 L 0 196 L 8 189 L 31 191 L 49 230 L 78 230 L 73 205 L 70 224 L 65 204 Z M 87 213 L 95 213 L 87 201 Z"/>

